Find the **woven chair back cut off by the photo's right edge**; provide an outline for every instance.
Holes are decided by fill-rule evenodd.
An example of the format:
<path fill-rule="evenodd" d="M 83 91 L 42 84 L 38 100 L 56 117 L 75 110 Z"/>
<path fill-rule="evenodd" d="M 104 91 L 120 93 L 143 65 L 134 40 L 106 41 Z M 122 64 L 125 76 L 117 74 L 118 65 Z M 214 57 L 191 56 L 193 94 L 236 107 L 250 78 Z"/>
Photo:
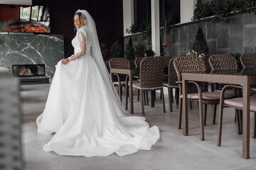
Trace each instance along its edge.
<path fill-rule="evenodd" d="M 256 53 L 242 54 L 242 74 L 256 74 Z"/>

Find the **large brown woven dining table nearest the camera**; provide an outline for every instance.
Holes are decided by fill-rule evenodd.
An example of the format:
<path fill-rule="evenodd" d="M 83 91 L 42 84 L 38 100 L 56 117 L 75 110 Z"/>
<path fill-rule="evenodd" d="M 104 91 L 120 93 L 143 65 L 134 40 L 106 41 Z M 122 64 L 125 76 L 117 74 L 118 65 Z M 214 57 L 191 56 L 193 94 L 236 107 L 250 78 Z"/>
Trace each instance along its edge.
<path fill-rule="evenodd" d="M 256 84 L 256 74 L 182 73 L 183 135 L 188 135 L 188 82 L 203 81 L 242 86 L 242 158 L 250 159 L 250 86 Z M 204 130 L 203 128 L 201 129 Z"/>

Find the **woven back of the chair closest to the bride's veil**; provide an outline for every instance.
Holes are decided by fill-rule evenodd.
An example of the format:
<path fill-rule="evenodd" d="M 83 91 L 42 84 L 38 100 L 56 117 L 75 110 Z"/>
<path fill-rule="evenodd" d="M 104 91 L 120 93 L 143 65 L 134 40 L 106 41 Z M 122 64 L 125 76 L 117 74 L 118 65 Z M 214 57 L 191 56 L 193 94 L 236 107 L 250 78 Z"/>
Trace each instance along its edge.
<path fill-rule="evenodd" d="M 109 60 L 110 69 L 129 69 L 130 64 L 129 60 L 126 58 L 111 58 Z M 120 81 L 125 81 L 126 75 L 120 74 L 119 79 Z M 117 77 L 114 77 L 114 81 L 118 81 Z"/>

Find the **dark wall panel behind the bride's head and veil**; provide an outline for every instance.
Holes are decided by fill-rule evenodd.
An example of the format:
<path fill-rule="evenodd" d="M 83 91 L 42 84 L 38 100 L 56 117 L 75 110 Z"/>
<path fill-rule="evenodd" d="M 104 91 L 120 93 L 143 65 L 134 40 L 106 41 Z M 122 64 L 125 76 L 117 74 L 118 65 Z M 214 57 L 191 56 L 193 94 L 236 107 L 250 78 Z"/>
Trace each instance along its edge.
<path fill-rule="evenodd" d="M 78 9 L 87 10 L 94 18 L 99 40 L 105 43 L 108 50 L 116 40 L 119 40 L 123 48 L 123 14 L 120 0 L 33 0 L 33 5 L 50 7 L 50 31 L 51 34 L 64 35 L 65 57 L 73 55 L 73 16 Z"/>

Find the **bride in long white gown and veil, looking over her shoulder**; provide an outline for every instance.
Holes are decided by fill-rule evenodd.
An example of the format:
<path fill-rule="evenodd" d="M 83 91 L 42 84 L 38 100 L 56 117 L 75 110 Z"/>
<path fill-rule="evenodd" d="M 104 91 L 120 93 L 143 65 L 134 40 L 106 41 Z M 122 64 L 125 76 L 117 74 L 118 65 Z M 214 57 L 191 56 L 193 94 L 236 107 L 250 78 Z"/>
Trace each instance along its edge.
<path fill-rule="evenodd" d="M 102 60 L 95 22 L 85 10 L 74 16 L 75 54 L 58 62 L 38 133 L 50 135 L 45 152 L 84 157 L 149 150 L 159 129 L 128 116 Z"/>

